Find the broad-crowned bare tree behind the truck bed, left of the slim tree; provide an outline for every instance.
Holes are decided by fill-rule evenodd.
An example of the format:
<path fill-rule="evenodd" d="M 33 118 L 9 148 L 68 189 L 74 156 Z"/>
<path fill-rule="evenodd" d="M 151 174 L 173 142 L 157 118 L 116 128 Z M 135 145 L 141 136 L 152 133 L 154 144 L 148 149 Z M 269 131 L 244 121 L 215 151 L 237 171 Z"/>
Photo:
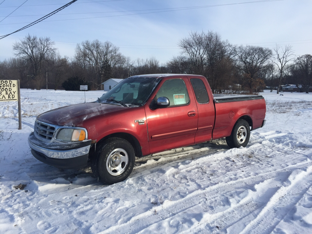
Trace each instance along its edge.
<path fill-rule="evenodd" d="M 267 65 L 267 61 L 272 57 L 271 49 L 261 46 L 239 46 L 236 51 L 237 68 L 243 74 L 245 85 L 250 90 L 255 90 L 260 84 L 260 71 Z"/>

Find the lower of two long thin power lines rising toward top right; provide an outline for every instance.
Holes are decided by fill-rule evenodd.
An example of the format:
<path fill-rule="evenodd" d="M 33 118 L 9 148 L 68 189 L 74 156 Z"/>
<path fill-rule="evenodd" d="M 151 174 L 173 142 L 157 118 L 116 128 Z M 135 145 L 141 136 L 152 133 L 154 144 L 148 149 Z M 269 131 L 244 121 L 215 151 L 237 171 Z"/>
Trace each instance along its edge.
<path fill-rule="evenodd" d="M 180 9 L 181 7 L 179 7 L 179 8 L 168 8 L 168 9 L 173 9 L 173 10 L 156 11 L 156 12 L 143 12 L 143 13 L 134 13 L 134 14 L 114 15 L 114 16 L 85 17 L 85 18 L 76 18 L 76 19 L 46 20 L 45 22 L 67 21 L 67 20 L 78 20 L 78 19 L 95 19 L 95 18 L 129 16 L 129 15 L 142 15 L 142 14 L 151 14 L 151 13 L 160 13 L 160 12 L 173 12 L 173 11 L 192 10 L 192 9 L 200 9 L 200 8 L 207 8 L 207 7 L 220 7 L 220 6 L 238 5 L 238 4 L 246 4 L 246 3 L 279 2 L 279 1 L 285 1 L 285 0 L 260 0 L 260 1 L 252 1 L 252 2 L 237 2 L 237 3 L 228 3 L 228 4 L 200 6 L 200 7 L 189 7 L 189 8 L 184 8 L 184 9 Z M 137 10 L 137 11 L 140 11 L 140 10 Z M 23 22 L 23 23 L 29 23 L 29 22 Z M 21 24 L 21 23 L 8 23 L 8 24 Z M 0 25 L 7 25 L 7 24 L 0 24 Z"/>

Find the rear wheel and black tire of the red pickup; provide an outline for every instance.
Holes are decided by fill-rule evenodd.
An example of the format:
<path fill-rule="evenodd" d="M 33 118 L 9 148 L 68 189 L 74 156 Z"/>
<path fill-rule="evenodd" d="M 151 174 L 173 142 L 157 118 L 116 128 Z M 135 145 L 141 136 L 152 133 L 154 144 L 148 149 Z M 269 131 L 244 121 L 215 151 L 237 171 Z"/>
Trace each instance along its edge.
<path fill-rule="evenodd" d="M 238 119 L 234 124 L 231 136 L 226 137 L 227 145 L 230 148 L 246 147 L 249 142 L 250 127 L 246 120 Z"/>

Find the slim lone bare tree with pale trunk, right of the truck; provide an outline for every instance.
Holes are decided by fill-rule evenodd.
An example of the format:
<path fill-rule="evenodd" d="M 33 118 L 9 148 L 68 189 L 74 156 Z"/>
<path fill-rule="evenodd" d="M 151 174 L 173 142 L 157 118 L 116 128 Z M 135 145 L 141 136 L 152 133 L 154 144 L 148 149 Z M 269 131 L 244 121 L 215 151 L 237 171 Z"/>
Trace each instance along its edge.
<path fill-rule="evenodd" d="M 280 46 L 276 44 L 273 50 L 275 51 L 275 57 L 272 62 L 276 64 L 279 73 L 279 82 L 277 86 L 277 94 L 279 94 L 285 66 L 295 58 L 295 55 L 294 51 L 292 50 L 292 46 L 290 45 Z"/>

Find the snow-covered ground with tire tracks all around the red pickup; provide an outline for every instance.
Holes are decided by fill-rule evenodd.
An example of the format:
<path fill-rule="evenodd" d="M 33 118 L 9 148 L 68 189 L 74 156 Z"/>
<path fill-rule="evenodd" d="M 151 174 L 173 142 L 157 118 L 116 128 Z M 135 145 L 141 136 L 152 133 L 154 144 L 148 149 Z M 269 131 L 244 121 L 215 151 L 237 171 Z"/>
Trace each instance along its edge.
<path fill-rule="evenodd" d="M 312 233 L 312 94 L 275 92 L 261 93 L 266 125 L 246 148 L 220 139 L 150 155 L 107 186 L 27 144 L 38 114 L 84 93 L 21 90 L 22 130 L 17 103 L 0 103 L 0 233 Z"/>

